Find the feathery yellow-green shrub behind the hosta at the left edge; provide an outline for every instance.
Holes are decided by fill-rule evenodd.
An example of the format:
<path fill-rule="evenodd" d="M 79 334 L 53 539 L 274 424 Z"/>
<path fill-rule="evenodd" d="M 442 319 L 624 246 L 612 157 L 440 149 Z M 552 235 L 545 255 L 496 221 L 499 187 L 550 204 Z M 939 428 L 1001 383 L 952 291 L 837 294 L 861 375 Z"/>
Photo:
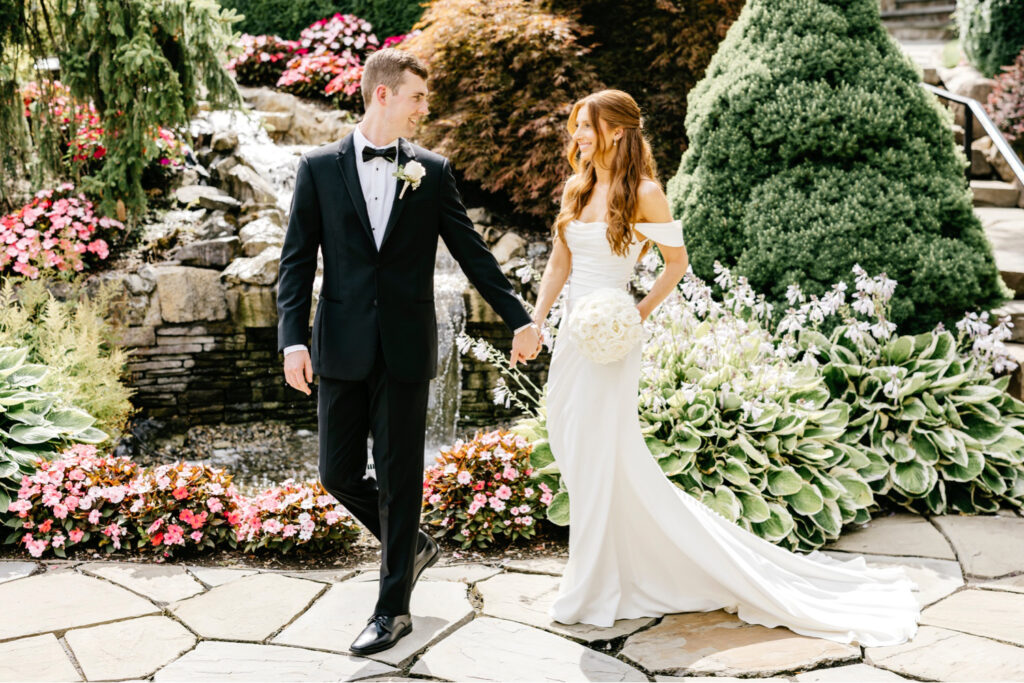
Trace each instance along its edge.
<path fill-rule="evenodd" d="M 120 436 L 134 412 L 132 390 L 122 384 L 127 356 L 111 341 L 105 322 L 113 289 L 93 298 L 59 301 L 43 281 L 10 281 L 0 289 L 0 346 L 23 348 L 30 362 L 49 372 L 39 388 L 58 394 L 96 419 L 96 427 Z"/>

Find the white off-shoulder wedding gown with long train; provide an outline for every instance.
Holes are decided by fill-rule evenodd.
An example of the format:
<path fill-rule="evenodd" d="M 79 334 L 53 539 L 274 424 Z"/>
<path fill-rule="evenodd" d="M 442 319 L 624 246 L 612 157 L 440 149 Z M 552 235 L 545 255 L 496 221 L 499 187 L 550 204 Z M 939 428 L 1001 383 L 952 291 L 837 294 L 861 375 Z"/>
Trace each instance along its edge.
<path fill-rule="evenodd" d="M 566 316 L 578 297 L 625 289 L 642 243 L 615 255 L 605 223 L 573 221 Z M 668 246 L 682 225 L 637 223 Z M 725 609 L 750 624 L 783 626 L 840 643 L 894 645 L 912 638 L 918 586 L 902 567 L 868 567 L 791 552 L 673 484 L 640 431 L 641 347 L 592 362 L 558 335 L 548 377 L 548 434 L 569 493 L 569 559 L 550 615 L 610 627 L 615 620 Z"/>

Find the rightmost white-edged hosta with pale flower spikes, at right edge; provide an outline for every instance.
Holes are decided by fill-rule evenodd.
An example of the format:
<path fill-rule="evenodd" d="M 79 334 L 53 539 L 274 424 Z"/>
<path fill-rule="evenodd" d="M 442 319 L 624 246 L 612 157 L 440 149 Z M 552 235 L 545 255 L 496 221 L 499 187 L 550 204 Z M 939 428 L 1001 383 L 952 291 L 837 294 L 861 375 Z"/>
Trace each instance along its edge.
<path fill-rule="evenodd" d="M 843 441 L 884 459 L 880 476 L 869 476 L 876 496 L 930 514 L 1024 505 L 1024 402 L 1006 392 L 1009 376 L 994 376 L 1015 366 L 1002 347 L 1009 319 L 993 327 L 971 313 L 956 336 L 942 326 L 895 336 L 887 314 L 896 283 L 854 272 L 852 306 L 841 292 L 825 304 L 792 288 L 799 307 L 780 333 L 850 403 Z M 844 322 L 826 336 L 816 328 L 829 316 Z"/>

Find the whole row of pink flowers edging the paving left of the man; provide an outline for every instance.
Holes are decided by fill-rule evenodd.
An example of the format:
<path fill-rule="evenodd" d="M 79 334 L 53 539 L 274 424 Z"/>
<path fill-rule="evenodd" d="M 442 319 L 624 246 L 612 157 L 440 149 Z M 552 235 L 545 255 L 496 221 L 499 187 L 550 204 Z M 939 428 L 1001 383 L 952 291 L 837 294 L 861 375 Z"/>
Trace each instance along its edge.
<path fill-rule="evenodd" d="M 347 550 L 359 528 L 318 483 L 242 495 L 224 470 L 178 462 L 138 467 L 78 444 L 22 478 L 4 540 L 33 557 L 70 548 L 170 558 L 214 548 Z"/>

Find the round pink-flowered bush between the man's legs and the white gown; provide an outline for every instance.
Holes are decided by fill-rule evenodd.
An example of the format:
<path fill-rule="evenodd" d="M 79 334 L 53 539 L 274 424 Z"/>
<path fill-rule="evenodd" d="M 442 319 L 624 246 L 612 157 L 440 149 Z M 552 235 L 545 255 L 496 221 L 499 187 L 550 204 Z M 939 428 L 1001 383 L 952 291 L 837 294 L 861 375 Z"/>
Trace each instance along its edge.
<path fill-rule="evenodd" d="M 535 536 L 553 494 L 530 478 L 531 451 L 525 438 L 503 430 L 441 451 L 423 482 L 423 521 L 463 548 Z"/>

